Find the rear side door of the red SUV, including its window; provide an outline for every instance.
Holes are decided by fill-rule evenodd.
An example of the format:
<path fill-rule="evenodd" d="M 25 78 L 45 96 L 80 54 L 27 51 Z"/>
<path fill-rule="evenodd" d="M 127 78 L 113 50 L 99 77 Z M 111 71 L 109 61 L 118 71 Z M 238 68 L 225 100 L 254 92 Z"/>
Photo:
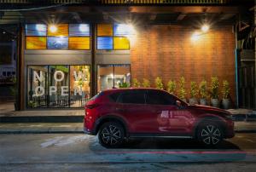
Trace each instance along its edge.
<path fill-rule="evenodd" d="M 128 122 L 131 134 L 153 132 L 153 117 L 145 104 L 145 90 L 124 91 L 118 101 L 122 104 L 120 111 L 123 111 L 123 118 Z"/>

